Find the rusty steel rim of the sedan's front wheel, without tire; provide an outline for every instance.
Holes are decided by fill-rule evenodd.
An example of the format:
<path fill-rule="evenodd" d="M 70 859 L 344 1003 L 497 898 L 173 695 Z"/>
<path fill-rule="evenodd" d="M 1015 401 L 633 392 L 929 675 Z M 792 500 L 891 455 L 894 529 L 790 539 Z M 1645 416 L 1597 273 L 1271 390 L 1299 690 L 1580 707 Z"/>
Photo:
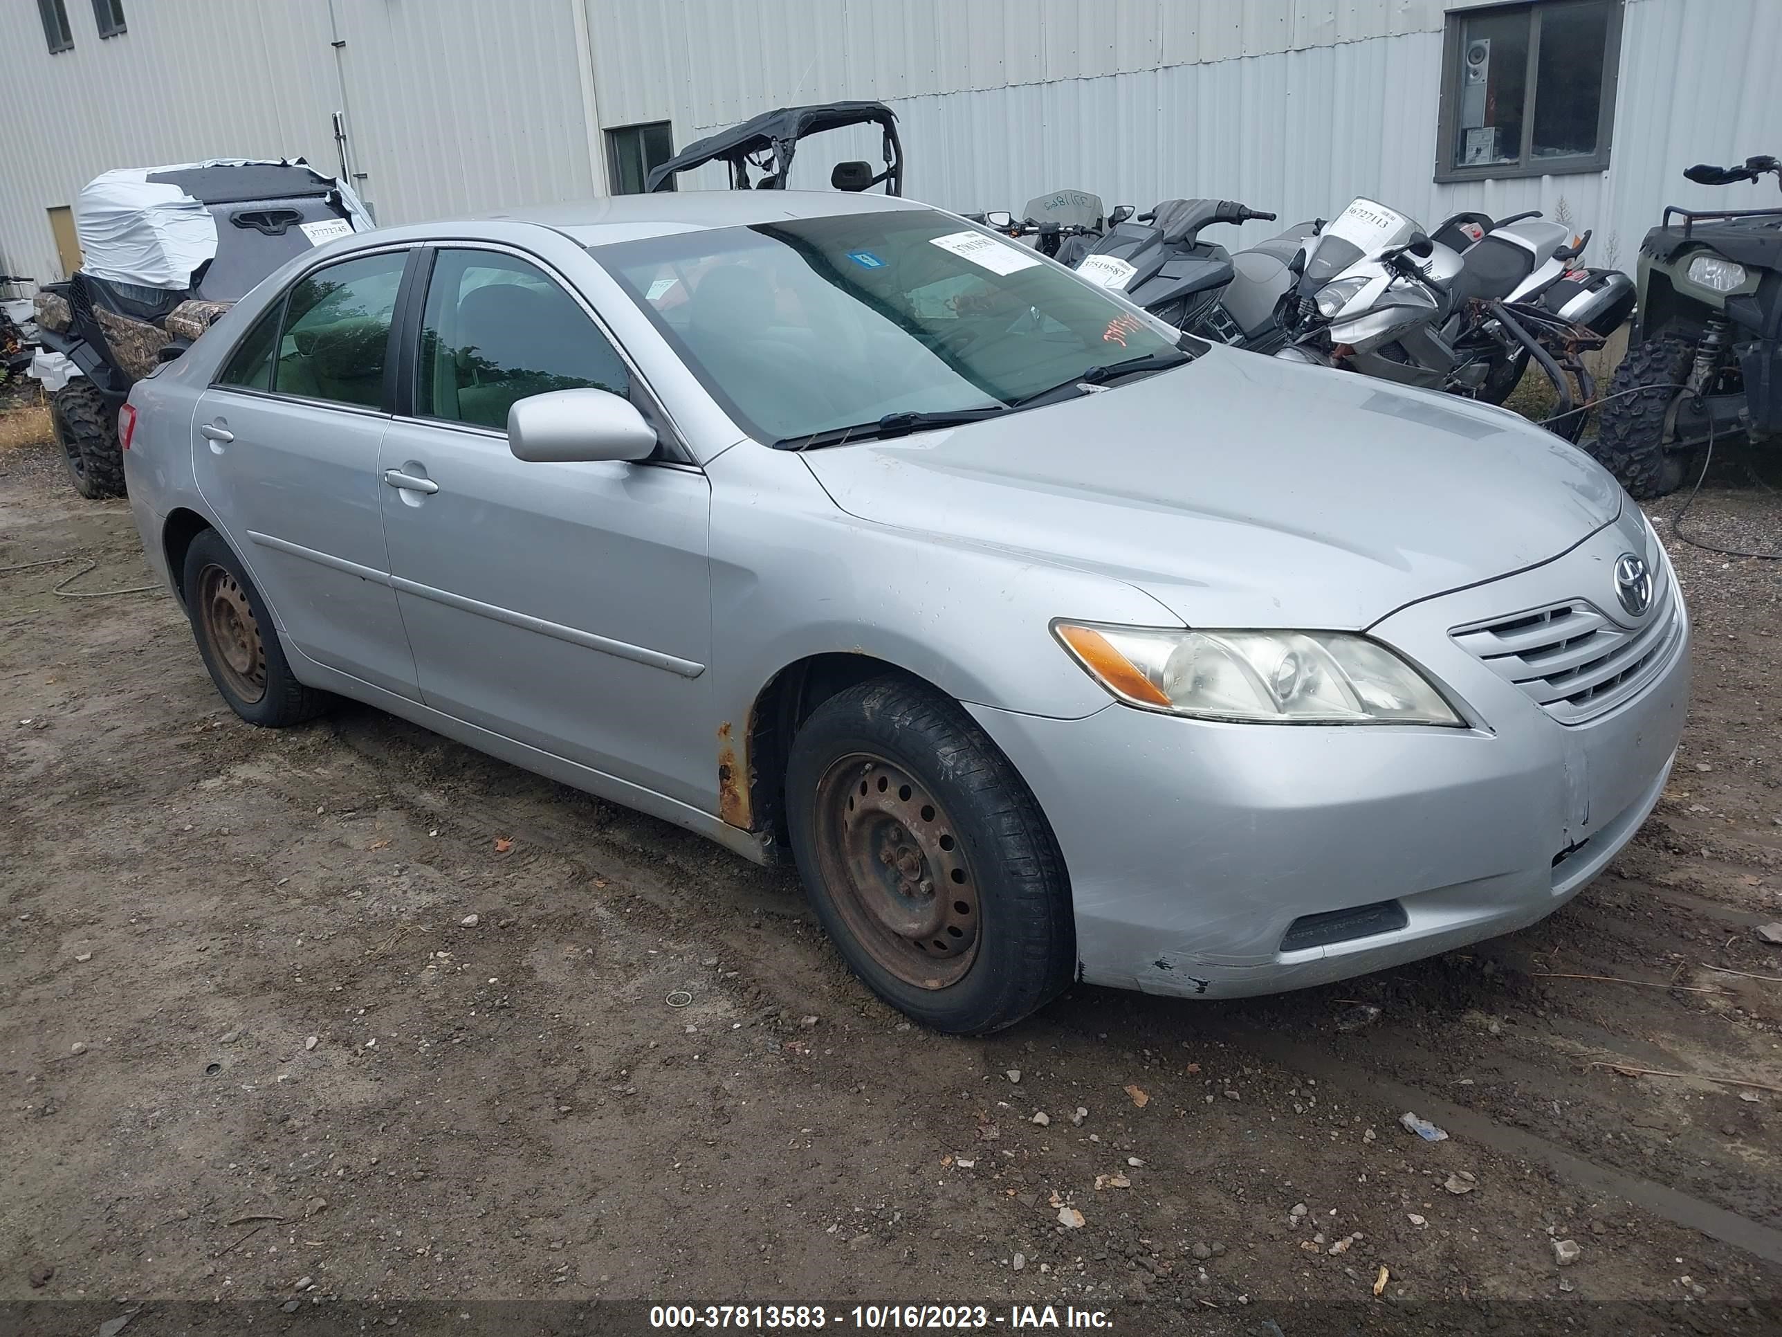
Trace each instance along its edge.
<path fill-rule="evenodd" d="M 978 879 L 928 788 L 886 758 L 852 752 L 816 786 L 823 884 L 854 939 L 920 989 L 957 984 L 978 957 Z"/>

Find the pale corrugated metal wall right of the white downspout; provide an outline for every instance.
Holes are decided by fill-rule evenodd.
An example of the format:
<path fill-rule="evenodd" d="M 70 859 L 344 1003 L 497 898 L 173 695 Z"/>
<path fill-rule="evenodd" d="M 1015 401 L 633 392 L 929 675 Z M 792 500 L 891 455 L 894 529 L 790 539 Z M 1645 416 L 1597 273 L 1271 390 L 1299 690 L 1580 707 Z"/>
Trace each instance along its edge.
<path fill-rule="evenodd" d="M 1140 209 L 1235 198 L 1281 221 L 1369 194 L 1435 225 L 1524 209 L 1595 228 L 1632 267 L 1666 203 L 1782 203 L 1689 185 L 1691 162 L 1782 152 L 1777 0 L 1627 0 L 1607 173 L 1435 182 L 1445 14 L 1486 0 L 588 0 L 601 116 L 672 119 L 675 144 L 786 102 L 882 98 L 907 191 L 1019 209 L 1060 187 Z M 795 184 L 875 157 L 813 141 Z M 718 171 L 690 184 L 718 187 Z M 1240 234 L 1269 235 L 1262 223 Z"/>

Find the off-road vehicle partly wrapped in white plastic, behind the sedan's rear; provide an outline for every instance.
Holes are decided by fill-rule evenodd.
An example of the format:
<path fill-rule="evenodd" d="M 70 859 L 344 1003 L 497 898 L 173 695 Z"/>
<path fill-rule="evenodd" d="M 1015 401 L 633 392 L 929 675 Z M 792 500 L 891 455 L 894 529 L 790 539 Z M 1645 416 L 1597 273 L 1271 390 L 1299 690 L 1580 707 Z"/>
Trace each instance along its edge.
<path fill-rule="evenodd" d="M 84 497 L 123 494 L 118 410 L 285 260 L 372 226 L 351 187 L 303 159 L 118 168 L 75 201 L 80 269 L 36 298 L 34 374 Z"/>

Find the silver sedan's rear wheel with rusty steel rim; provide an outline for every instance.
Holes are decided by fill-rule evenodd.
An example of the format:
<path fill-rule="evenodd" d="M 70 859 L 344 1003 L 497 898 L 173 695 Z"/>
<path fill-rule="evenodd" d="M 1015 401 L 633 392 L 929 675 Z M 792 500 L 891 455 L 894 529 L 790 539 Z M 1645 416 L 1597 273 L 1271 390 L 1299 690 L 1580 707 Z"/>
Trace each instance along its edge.
<path fill-rule="evenodd" d="M 185 549 L 180 590 L 198 654 L 230 710 L 266 729 L 303 724 L 328 710 L 333 697 L 290 672 L 266 599 L 216 529 L 205 529 Z M 225 640 L 225 622 L 241 636 Z"/>

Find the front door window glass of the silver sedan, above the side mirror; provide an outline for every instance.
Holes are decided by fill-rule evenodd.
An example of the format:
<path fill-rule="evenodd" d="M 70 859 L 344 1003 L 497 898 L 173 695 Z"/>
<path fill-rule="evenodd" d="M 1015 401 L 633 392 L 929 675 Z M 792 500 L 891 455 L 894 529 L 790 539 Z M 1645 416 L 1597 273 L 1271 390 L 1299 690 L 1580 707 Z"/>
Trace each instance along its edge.
<path fill-rule="evenodd" d="M 554 278 L 497 251 L 438 253 L 421 326 L 422 417 L 504 431 L 519 399 L 586 387 L 629 394 L 631 376 Z"/>

